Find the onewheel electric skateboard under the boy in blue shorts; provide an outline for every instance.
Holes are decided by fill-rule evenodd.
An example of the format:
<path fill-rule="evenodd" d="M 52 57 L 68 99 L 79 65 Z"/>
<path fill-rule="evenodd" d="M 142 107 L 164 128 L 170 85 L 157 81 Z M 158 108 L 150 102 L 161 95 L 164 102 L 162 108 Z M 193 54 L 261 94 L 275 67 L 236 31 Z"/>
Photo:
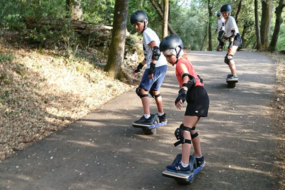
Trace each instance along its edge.
<path fill-rule="evenodd" d="M 161 120 L 159 119 L 157 114 L 150 114 L 150 117 L 152 118 L 152 122 L 154 124 L 147 125 L 147 124 L 133 123 L 132 124 L 133 127 L 142 128 L 142 130 L 145 134 L 156 134 L 159 126 L 167 124 L 167 121 L 161 122 Z"/>

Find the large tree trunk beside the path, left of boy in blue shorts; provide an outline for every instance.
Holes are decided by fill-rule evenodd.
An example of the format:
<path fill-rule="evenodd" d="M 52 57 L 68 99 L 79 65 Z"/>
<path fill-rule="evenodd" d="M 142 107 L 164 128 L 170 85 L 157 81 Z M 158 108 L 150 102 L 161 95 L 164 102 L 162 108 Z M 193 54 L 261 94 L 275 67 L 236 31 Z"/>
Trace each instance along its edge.
<path fill-rule="evenodd" d="M 129 79 L 124 69 L 124 53 L 129 0 L 116 0 L 112 40 L 109 47 L 108 62 L 104 71 L 109 72 L 113 79 Z M 131 81 L 130 81 L 131 82 Z"/>

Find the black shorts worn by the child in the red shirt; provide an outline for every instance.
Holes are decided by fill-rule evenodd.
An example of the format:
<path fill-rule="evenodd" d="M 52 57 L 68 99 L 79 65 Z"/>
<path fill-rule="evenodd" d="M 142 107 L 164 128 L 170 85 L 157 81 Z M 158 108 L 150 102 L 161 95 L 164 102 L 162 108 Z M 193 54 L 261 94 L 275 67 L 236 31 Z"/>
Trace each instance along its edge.
<path fill-rule="evenodd" d="M 209 97 L 202 86 L 195 86 L 187 92 L 186 116 L 207 117 L 209 109 Z"/>

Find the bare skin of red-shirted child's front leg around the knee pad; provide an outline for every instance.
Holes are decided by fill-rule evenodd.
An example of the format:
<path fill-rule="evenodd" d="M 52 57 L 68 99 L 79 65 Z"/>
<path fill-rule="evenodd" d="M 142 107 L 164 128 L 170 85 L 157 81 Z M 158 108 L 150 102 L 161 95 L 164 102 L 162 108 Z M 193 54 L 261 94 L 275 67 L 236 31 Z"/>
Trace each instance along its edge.
<path fill-rule="evenodd" d="M 192 128 L 197 123 L 198 119 L 199 119 L 198 116 L 184 116 L 182 123 L 184 124 L 184 126 Z M 190 140 L 191 139 L 191 133 L 189 131 L 183 130 L 183 137 L 184 137 L 184 139 Z M 189 164 L 190 149 L 191 149 L 191 144 L 187 144 L 187 143 L 182 144 L 182 159 L 181 159 L 181 161 L 184 164 Z M 200 150 L 200 152 L 201 152 L 201 150 Z"/>

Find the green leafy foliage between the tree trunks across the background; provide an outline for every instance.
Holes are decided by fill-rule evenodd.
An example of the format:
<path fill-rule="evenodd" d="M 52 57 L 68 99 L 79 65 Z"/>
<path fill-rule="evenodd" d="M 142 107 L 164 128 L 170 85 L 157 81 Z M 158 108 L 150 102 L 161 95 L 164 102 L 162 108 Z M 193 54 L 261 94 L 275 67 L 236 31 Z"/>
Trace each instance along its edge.
<path fill-rule="evenodd" d="M 163 7 L 162 0 L 155 0 L 157 5 Z M 240 0 L 210 0 L 212 6 L 212 47 L 215 48 L 217 41 L 217 13 L 223 4 L 230 4 L 232 7 L 231 15 L 235 17 Z M 278 6 L 279 1 L 273 1 L 274 8 Z M 259 19 L 261 19 L 261 3 L 258 1 Z M 91 24 L 112 25 L 115 0 L 82 0 L 84 21 Z M 0 27 L 9 30 L 25 29 L 25 19 L 32 17 L 38 21 L 44 17 L 56 19 L 66 18 L 70 13 L 66 6 L 66 0 L 6 0 L 0 1 Z M 285 8 L 284 8 L 285 9 Z M 283 9 L 282 17 L 285 19 Z M 130 24 L 131 14 L 137 10 L 143 10 L 147 13 L 149 23 L 161 38 L 162 18 L 154 9 L 150 0 L 137 1 L 129 0 L 129 10 L 127 19 L 127 29 L 131 34 L 135 34 L 135 28 Z M 276 15 L 272 13 L 271 35 L 274 30 Z M 206 26 L 209 22 L 208 0 L 170 0 L 170 24 L 176 33 L 182 38 L 186 47 L 191 50 L 200 50 L 203 38 L 205 36 Z M 56 24 L 56 23 L 54 23 Z M 243 42 L 243 48 L 255 48 L 255 17 L 254 1 L 242 1 L 242 7 L 238 17 L 238 27 L 240 34 L 243 34 L 243 25 L 247 24 L 247 33 Z M 276 50 L 284 49 L 285 45 L 285 23 L 282 23 Z M 42 47 L 57 48 L 64 46 L 66 49 L 74 49 L 78 44 L 80 35 L 72 30 L 69 23 L 61 28 L 54 30 L 52 24 L 44 27 L 35 27 L 26 31 L 26 38 L 40 44 Z M 141 34 L 139 34 L 141 35 Z M 96 40 L 96 39 L 95 39 Z M 206 39 L 204 50 L 207 49 Z M 93 43 L 91 40 L 90 44 Z M 97 42 L 96 42 L 97 43 Z M 84 42 L 80 43 L 84 45 Z M 105 44 L 102 44 L 105 45 Z"/>

